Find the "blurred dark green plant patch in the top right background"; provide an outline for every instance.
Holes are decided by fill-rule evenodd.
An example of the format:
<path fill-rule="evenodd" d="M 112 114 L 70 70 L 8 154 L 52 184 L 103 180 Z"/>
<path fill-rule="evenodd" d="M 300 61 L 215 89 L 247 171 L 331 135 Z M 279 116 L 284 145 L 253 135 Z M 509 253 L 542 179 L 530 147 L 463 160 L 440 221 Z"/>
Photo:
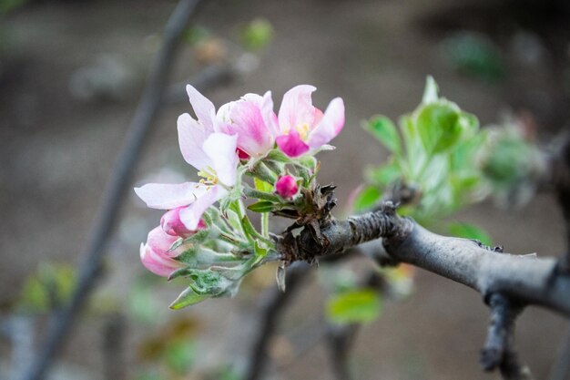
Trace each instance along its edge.
<path fill-rule="evenodd" d="M 463 31 L 445 38 L 442 48 L 450 65 L 462 74 L 487 81 L 506 75 L 501 50 L 486 36 Z"/>

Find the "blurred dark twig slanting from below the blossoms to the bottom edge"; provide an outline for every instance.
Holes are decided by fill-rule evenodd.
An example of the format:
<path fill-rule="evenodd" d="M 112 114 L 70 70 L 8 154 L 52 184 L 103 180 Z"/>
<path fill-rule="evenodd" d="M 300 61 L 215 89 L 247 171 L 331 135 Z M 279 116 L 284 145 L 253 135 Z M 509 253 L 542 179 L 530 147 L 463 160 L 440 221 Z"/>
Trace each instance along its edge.
<path fill-rule="evenodd" d="M 263 373 L 263 369 L 268 362 L 268 344 L 271 336 L 277 329 L 281 312 L 291 296 L 299 289 L 300 284 L 306 279 L 309 272 L 309 265 L 295 265 L 287 272 L 287 292 L 281 292 L 277 286 L 274 286 L 268 293 L 263 295 L 260 301 L 260 312 L 258 313 L 260 315 L 260 328 L 249 355 L 246 375 L 244 376 L 245 380 L 257 380 Z"/>

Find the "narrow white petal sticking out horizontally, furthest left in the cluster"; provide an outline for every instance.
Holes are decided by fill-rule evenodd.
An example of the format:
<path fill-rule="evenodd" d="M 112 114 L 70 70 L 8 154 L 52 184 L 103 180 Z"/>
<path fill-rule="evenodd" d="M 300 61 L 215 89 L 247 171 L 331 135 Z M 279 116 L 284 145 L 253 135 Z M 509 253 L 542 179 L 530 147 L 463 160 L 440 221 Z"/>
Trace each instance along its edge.
<path fill-rule="evenodd" d="M 148 183 L 135 192 L 151 209 L 170 210 L 192 203 L 206 192 L 206 186 L 196 182 Z"/>

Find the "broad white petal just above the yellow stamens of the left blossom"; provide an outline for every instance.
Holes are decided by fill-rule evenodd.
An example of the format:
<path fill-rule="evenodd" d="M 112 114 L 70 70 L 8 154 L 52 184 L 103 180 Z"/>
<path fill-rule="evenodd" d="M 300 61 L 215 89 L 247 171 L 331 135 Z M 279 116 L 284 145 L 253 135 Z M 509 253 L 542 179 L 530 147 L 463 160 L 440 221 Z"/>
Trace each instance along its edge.
<path fill-rule="evenodd" d="M 218 179 L 226 186 L 236 184 L 239 158 L 236 153 L 238 136 L 212 133 L 204 142 L 204 151 L 209 157 L 212 169 Z"/>

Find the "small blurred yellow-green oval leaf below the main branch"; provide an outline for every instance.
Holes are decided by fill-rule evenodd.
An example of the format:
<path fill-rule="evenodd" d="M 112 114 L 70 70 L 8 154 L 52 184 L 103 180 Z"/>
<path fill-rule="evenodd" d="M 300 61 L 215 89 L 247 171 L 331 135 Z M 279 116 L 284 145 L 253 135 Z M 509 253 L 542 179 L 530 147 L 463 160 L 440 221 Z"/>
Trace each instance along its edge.
<path fill-rule="evenodd" d="M 326 306 L 326 315 L 335 324 L 366 324 L 382 312 L 382 301 L 372 289 L 353 290 L 334 295 Z"/>

